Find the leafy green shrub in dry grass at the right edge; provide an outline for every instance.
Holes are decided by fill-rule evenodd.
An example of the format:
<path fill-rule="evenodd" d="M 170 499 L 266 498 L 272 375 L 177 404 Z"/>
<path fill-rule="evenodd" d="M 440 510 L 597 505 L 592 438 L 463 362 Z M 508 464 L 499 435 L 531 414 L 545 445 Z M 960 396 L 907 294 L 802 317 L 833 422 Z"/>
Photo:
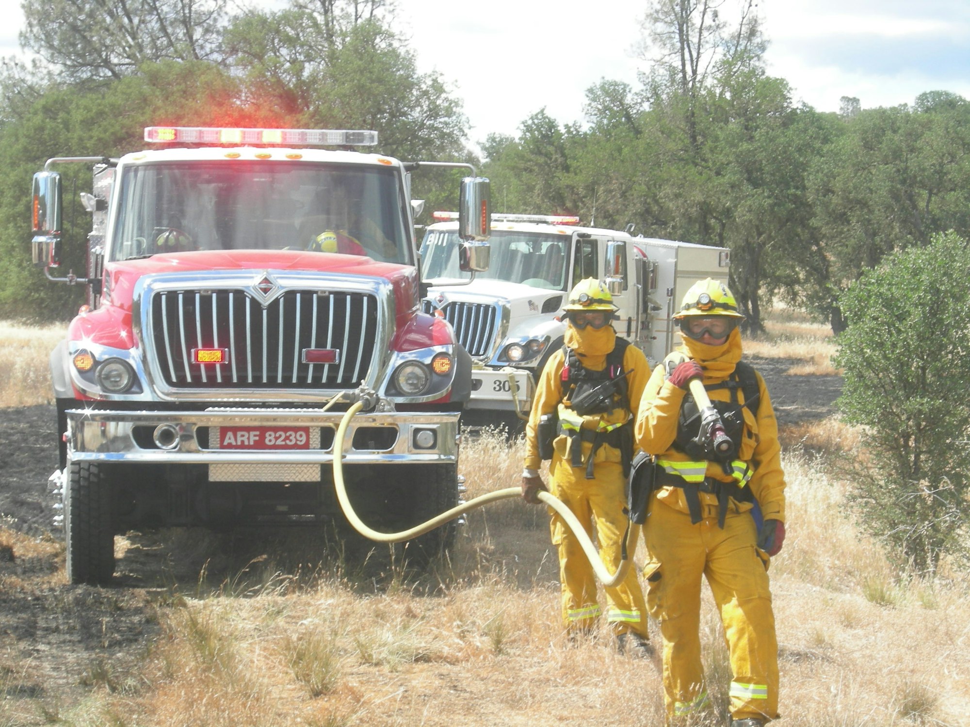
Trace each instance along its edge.
<path fill-rule="evenodd" d="M 838 403 L 866 453 L 851 499 L 894 560 L 933 572 L 970 522 L 970 247 L 948 233 L 889 256 L 840 303 Z"/>

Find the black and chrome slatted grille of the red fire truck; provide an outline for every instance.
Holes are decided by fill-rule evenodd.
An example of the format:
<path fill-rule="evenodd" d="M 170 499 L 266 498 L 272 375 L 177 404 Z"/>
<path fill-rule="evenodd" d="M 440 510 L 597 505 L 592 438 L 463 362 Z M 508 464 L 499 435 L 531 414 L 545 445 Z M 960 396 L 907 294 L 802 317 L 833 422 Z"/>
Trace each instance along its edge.
<path fill-rule="evenodd" d="M 161 291 L 150 302 L 159 368 L 172 387 L 346 389 L 366 378 L 377 337 L 372 295 L 285 291 L 263 307 L 242 290 Z M 224 349 L 196 364 L 194 349 Z M 335 364 L 304 363 L 305 349 L 336 349 Z"/>

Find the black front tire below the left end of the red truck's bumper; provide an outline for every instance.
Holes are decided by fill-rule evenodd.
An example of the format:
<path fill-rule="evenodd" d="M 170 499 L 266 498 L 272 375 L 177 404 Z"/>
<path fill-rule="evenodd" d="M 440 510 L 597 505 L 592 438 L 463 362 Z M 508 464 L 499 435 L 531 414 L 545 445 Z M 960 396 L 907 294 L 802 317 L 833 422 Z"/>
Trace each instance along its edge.
<path fill-rule="evenodd" d="M 67 579 L 72 584 L 103 585 L 114 573 L 112 486 L 104 467 L 69 462 L 64 486 L 64 540 Z"/>

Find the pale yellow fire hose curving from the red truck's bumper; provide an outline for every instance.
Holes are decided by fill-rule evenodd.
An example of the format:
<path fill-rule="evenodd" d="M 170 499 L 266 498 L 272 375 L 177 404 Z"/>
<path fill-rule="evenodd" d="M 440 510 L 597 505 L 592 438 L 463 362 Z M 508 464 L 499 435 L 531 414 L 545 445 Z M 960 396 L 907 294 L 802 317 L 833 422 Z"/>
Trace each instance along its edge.
<path fill-rule="evenodd" d="M 350 425 L 350 421 L 354 416 L 361 411 L 365 406 L 363 400 L 356 401 L 340 420 L 339 427 L 337 427 L 337 434 L 334 436 L 334 486 L 337 490 L 337 499 L 340 504 L 340 509 L 343 511 L 344 517 L 346 517 L 347 522 L 353 526 L 357 532 L 366 538 L 369 538 L 377 543 L 401 543 L 405 540 L 410 540 L 416 538 L 419 535 L 423 535 L 430 530 L 434 530 L 439 525 L 443 525 L 445 522 L 454 520 L 455 518 L 461 517 L 472 510 L 477 510 L 491 502 L 498 502 L 499 500 L 508 499 L 511 497 L 521 497 L 522 490 L 519 488 L 505 488 L 504 490 L 495 490 L 492 492 L 486 492 L 483 495 L 479 495 L 468 502 L 457 505 L 456 507 L 446 510 L 445 512 L 437 515 L 429 521 L 422 522 L 414 527 L 410 527 L 406 530 L 401 530 L 400 532 L 380 532 L 379 530 L 374 530 L 369 527 L 367 523 L 363 522 L 354 512 L 353 507 L 350 504 L 350 498 L 347 496 L 347 489 L 343 482 L 343 439 L 346 435 L 347 427 Z M 540 490 L 538 492 L 538 498 L 546 505 L 555 510 L 560 517 L 566 522 L 566 525 L 575 534 L 579 541 L 580 546 L 582 546 L 583 553 L 586 553 L 586 557 L 589 558 L 590 564 L 593 566 L 593 571 L 596 574 L 598 581 L 607 587 L 613 585 L 619 585 L 623 583 L 624 579 L 627 577 L 627 573 L 630 571 L 630 565 L 633 562 L 633 554 L 636 552 L 636 544 L 640 538 L 640 526 L 635 523 L 630 523 L 630 529 L 627 533 L 627 559 L 621 561 L 620 566 L 617 568 L 615 573 L 610 573 L 606 565 L 602 562 L 599 557 L 597 547 L 593 544 L 590 536 L 587 535 L 586 530 L 583 528 L 579 519 L 572 514 L 572 511 L 566 507 L 566 504 L 549 492 Z"/>

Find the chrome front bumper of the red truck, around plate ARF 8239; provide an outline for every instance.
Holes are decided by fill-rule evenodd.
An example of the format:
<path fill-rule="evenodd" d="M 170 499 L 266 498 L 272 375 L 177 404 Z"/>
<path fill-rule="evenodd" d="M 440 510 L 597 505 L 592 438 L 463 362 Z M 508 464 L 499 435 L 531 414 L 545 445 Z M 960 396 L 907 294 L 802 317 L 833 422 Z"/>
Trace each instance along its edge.
<path fill-rule="evenodd" d="M 327 464 L 334 459 L 333 445 L 308 450 L 220 450 L 210 447 L 203 427 L 317 427 L 336 431 L 342 412 L 320 409 L 210 409 L 199 412 L 67 411 L 67 445 L 72 461 L 123 461 L 165 464 Z M 449 413 L 374 412 L 358 414 L 347 427 L 343 461 L 347 464 L 455 462 L 458 459 L 459 415 Z M 172 449 L 151 442 L 155 427 L 171 425 L 178 431 Z M 386 449 L 357 449 L 354 433 L 361 427 L 389 427 L 396 433 Z M 202 429 L 200 431 L 200 429 Z M 432 431 L 434 436 L 422 435 Z M 331 437 L 326 437 L 331 441 Z M 391 435 L 387 436 L 391 439 Z"/>

